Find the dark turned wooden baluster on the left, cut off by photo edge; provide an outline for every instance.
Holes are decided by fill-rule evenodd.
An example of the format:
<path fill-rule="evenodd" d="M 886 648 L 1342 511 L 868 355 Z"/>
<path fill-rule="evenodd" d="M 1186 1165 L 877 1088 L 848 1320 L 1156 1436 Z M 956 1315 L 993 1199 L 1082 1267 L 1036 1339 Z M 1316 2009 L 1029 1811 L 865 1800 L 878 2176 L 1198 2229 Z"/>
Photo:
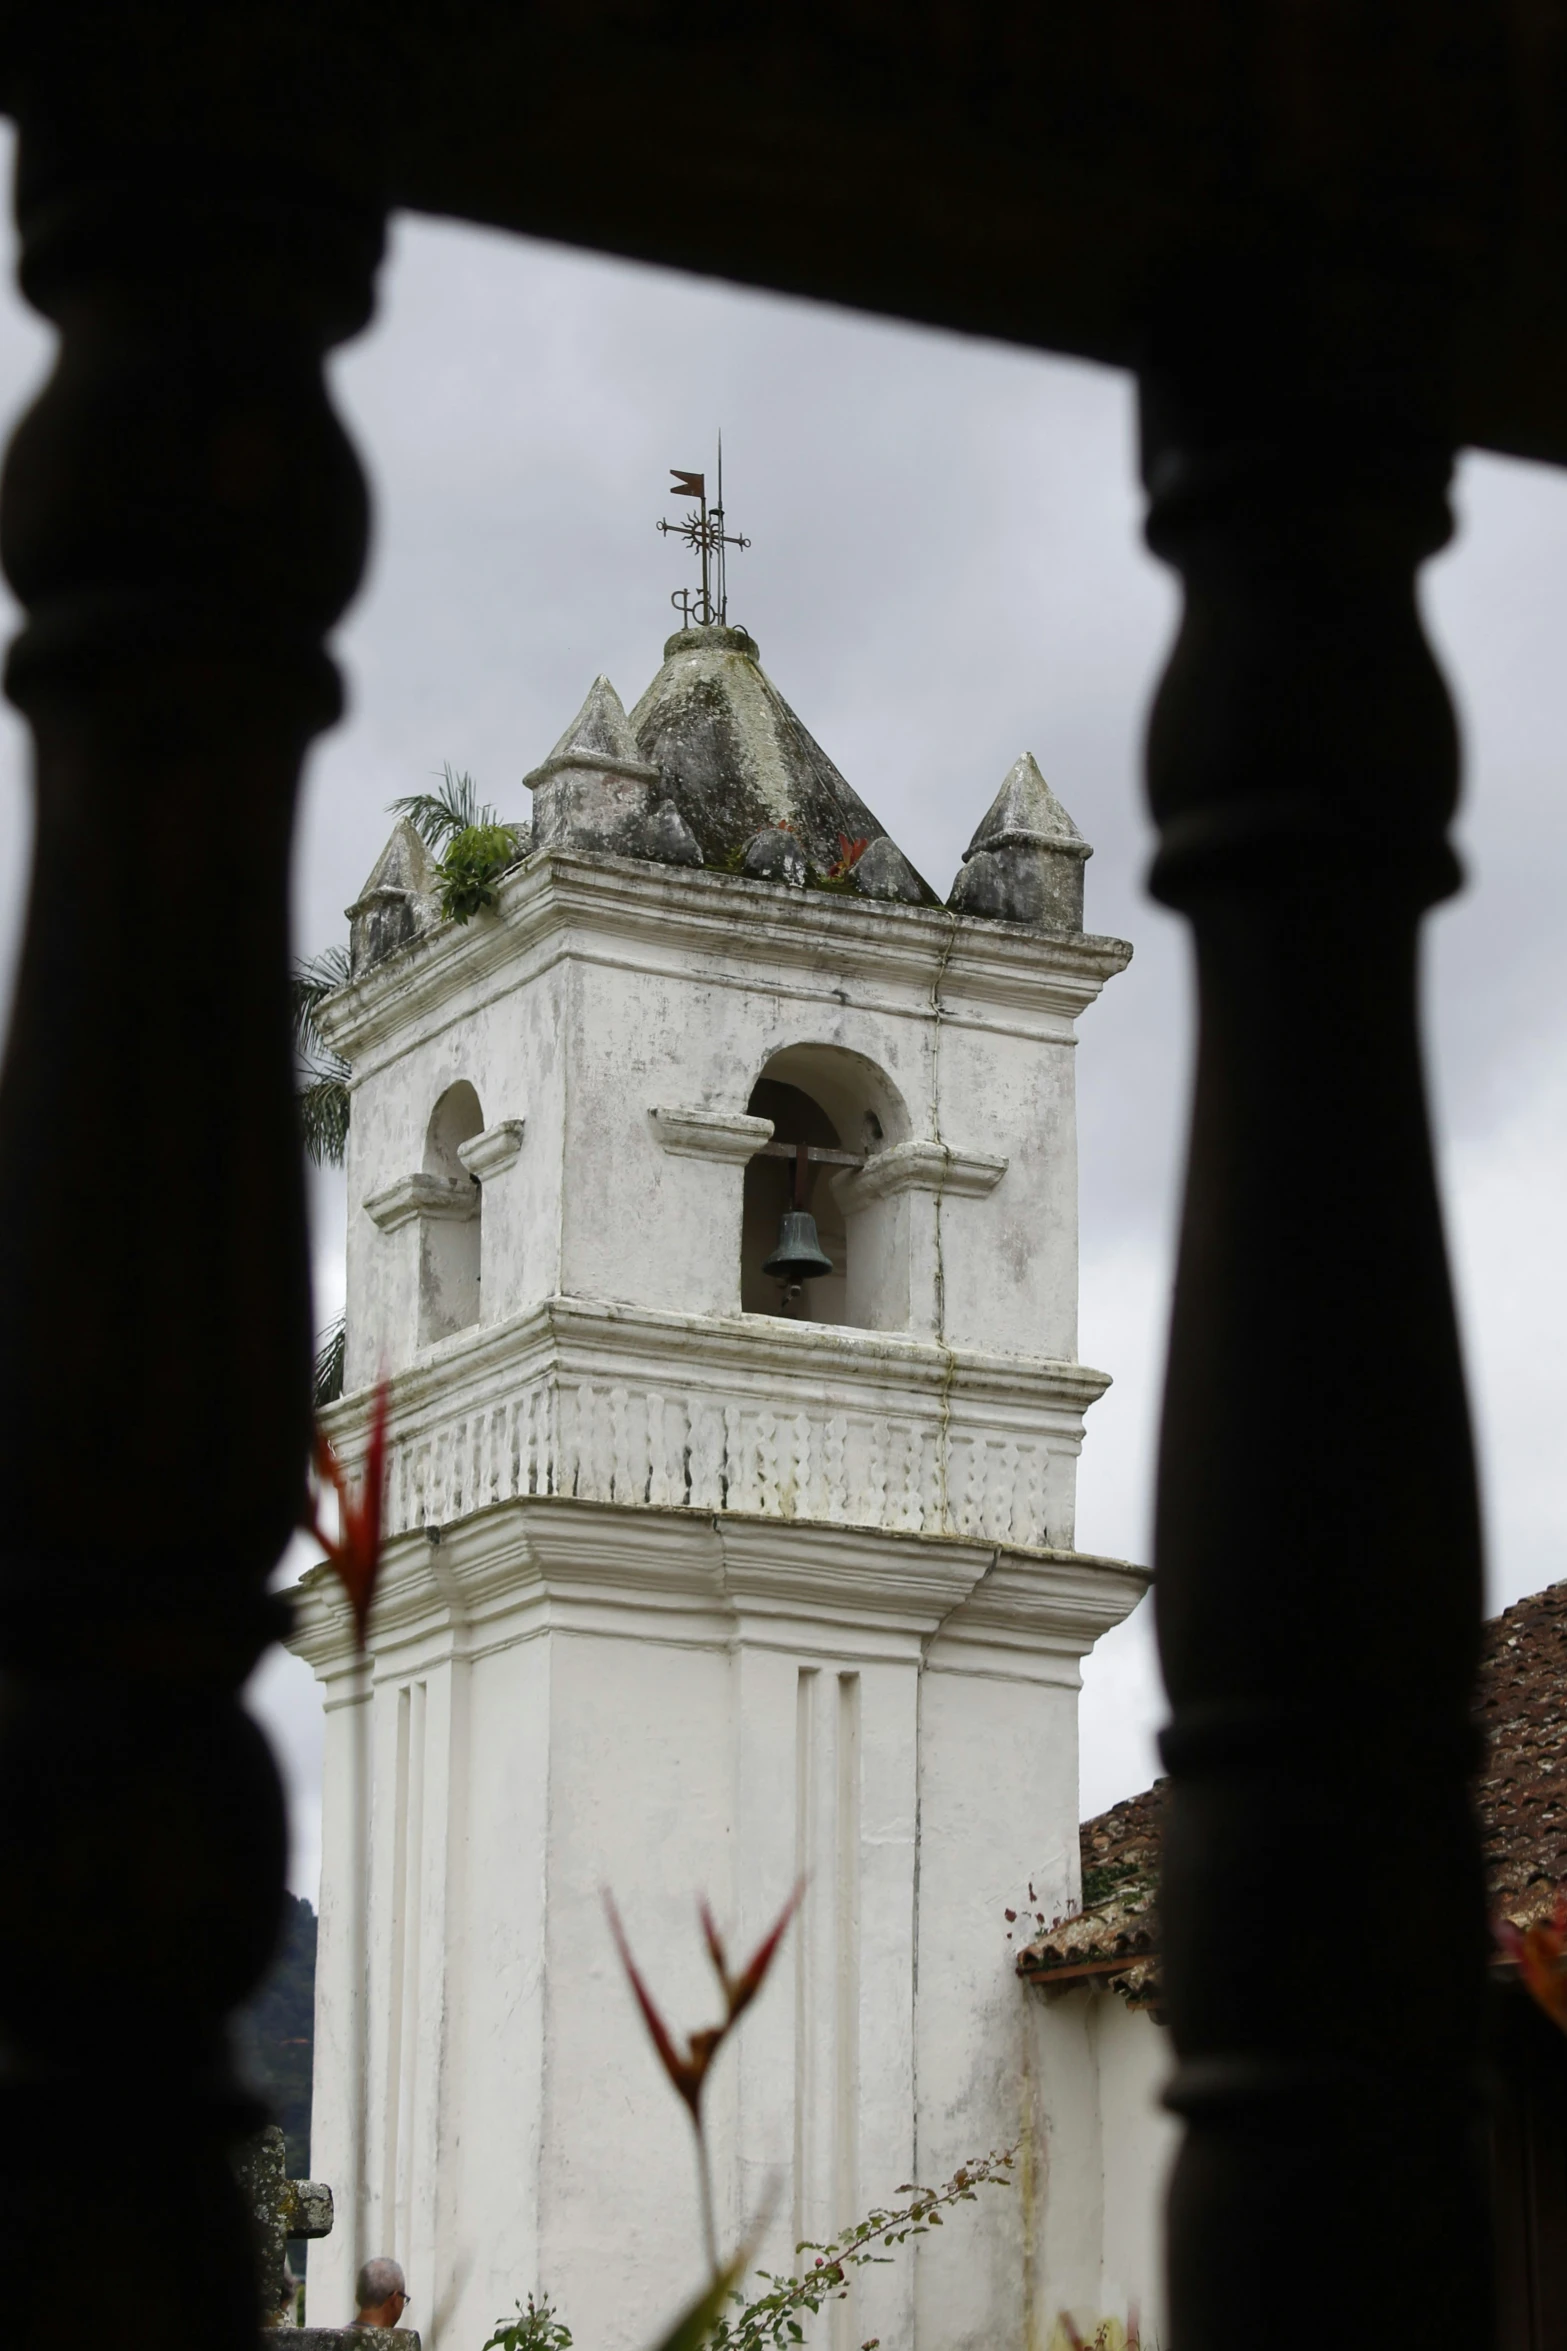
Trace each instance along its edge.
<path fill-rule="evenodd" d="M 19 221 L 61 343 L 0 505 L 38 785 L 0 1081 L 7 2335 L 249 2346 L 223 2017 L 284 1817 L 237 1688 L 308 1451 L 289 832 L 366 538 L 322 353 L 381 223 L 26 110 Z"/>

